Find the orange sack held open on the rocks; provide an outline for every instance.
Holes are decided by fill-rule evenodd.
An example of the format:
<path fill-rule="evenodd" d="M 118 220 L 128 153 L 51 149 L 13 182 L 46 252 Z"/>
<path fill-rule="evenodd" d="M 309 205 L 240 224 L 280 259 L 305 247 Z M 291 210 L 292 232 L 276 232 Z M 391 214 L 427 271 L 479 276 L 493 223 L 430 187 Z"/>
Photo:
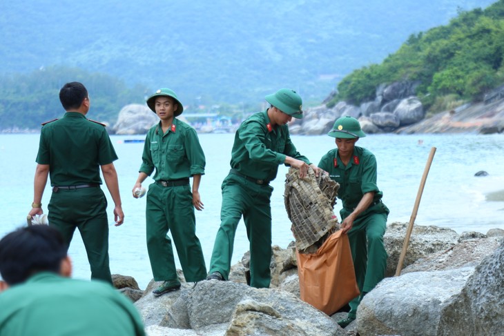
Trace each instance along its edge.
<path fill-rule="evenodd" d="M 348 236 L 342 235 L 342 230 L 330 235 L 317 253 L 296 253 L 296 256 L 304 302 L 333 315 L 360 294 Z"/>

